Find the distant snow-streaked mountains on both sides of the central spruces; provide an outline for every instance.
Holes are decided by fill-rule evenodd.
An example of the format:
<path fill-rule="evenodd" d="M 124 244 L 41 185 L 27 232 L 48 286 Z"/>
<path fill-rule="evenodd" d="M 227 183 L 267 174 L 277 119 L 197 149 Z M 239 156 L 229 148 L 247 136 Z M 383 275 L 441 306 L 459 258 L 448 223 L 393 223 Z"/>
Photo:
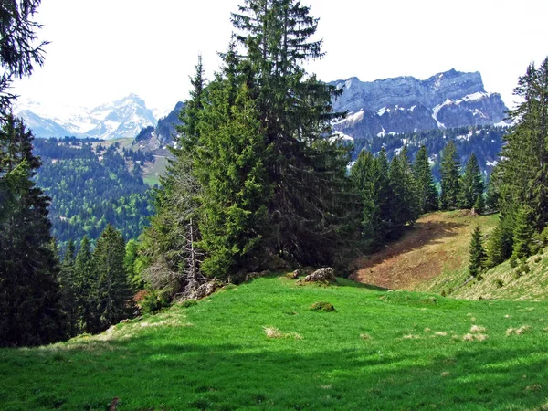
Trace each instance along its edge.
<path fill-rule="evenodd" d="M 353 77 L 332 81 L 342 90 L 333 101 L 347 116 L 334 124 L 344 139 L 382 138 L 386 134 L 443 130 L 466 126 L 507 125 L 508 110 L 496 92 L 487 92 L 479 72 L 455 69 L 429 79 L 398 77 L 364 82 Z M 179 102 L 163 119 L 156 119 L 135 94 L 93 109 L 20 102 L 16 114 L 37 137 L 135 138 L 141 148 L 157 150 L 173 141 Z"/>

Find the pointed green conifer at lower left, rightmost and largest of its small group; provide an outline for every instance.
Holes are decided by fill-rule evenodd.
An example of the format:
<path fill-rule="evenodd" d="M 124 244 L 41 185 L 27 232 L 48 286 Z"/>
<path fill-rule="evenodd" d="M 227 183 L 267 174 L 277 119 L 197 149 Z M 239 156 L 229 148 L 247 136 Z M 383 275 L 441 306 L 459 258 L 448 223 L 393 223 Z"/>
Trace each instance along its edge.
<path fill-rule="evenodd" d="M 123 237 L 109 224 L 97 240 L 91 259 L 97 278 L 96 314 L 91 332 L 106 330 L 131 314 L 132 290 L 124 268 L 124 257 Z"/>

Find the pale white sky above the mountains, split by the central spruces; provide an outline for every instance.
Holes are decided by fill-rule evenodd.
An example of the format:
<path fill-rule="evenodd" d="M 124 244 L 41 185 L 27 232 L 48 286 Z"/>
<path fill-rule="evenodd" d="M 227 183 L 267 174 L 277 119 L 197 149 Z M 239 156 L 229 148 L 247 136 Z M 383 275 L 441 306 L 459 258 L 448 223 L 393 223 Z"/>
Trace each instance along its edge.
<path fill-rule="evenodd" d="M 548 56 L 547 0 L 301 0 L 319 17 L 321 80 L 428 77 L 479 71 L 511 108 L 531 62 Z M 243 0 L 43 0 L 44 67 L 18 80 L 22 99 L 95 107 L 138 94 L 165 114 L 188 98 L 198 54 L 220 65 Z"/>

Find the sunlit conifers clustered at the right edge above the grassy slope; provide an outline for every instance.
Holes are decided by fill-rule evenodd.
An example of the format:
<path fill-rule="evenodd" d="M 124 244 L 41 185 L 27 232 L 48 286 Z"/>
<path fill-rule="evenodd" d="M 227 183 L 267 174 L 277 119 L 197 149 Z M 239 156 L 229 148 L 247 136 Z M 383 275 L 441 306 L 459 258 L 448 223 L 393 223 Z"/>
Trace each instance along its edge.
<path fill-rule="evenodd" d="M 548 58 L 527 68 L 514 94 L 522 103 L 510 111 L 515 125 L 488 190 L 501 220 L 485 245 L 480 231 L 470 245 L 473 275 L 508 258 L 512 267 L 520 265 L 519 274 L 527 272 L 526 259 L 548 243 Z"/>

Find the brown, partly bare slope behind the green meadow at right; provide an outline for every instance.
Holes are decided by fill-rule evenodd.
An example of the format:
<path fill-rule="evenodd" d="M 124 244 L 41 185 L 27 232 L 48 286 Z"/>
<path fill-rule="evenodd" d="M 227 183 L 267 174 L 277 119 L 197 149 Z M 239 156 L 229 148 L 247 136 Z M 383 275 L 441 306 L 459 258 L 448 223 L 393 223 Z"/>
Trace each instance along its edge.
<path fill-rule="evenodd" d="M 471 216 L 466 211 L 422 216 L 399 241 L 356 262 L 353 278 L 387 289 L 441 292 L 468 278 L 469 242 L 474 226 L 484 234 L 498 216 Z"/>

